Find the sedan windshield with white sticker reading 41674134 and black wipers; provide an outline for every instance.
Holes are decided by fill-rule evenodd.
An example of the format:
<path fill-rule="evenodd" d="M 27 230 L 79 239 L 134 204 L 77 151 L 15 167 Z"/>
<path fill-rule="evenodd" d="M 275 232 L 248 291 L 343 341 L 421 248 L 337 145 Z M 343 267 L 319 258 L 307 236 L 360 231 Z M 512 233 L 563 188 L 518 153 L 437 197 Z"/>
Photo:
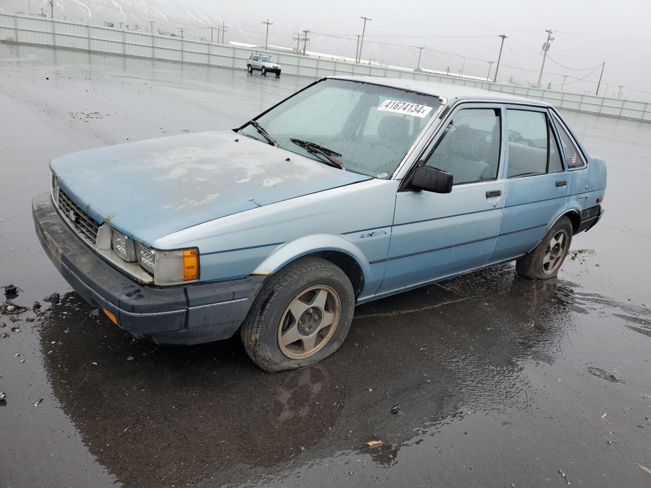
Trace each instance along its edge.
<path fill-rule="evenodd" d="M 323 161 L 305 145 L 340 154 L 346 170 L 388 179 L 441 102 L 435 96 L 370 83 L 326 79 L 256 118 L 278 146 Z M 253 126 L 245 135 L 268 142 Z"/>

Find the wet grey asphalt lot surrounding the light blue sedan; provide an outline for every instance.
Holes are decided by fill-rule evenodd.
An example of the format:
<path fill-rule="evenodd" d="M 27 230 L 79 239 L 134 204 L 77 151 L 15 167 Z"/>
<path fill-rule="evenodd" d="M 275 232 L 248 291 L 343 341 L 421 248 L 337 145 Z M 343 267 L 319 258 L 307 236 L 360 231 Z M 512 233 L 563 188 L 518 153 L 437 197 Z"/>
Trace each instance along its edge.
<path fill-rule="evenodd" d="M 359 306 L 311 368 L 133 340 L 59 277 L 31 220 L 49 159 L 232 128 L 309 81 L 0 44 L 0 285 L 47 311 L 0 316 L 0 487 L 651 486 L 651 124 L 566 114 L 609 180 L 558 279 Z"/>

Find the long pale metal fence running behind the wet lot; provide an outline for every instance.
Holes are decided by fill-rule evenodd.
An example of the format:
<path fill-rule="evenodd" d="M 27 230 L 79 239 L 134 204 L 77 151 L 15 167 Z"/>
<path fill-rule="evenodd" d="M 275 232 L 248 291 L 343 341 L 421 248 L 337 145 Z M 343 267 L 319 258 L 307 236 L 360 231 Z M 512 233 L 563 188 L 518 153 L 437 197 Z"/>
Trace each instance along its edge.
<path fill-rule="evenodd" d="M 0 14 L 0 41 L 239 69 L 246 66 L 245 61 L 253 52 L 251 49 L 225 44 L 211 44 L 210 42 L 125 31 L 112 27 L 7 14 Z M 544 100 L 559 109 L 651 122 L 651 103 L 555 92 L 539 88 L 513 87 L 489 81 L 415 73 L 407 69 L 368 66 L 367 64 L 335 61 L 334 59 L 303 56 L 295 53 L 278 53 L 275 58 L 281 64 L 283 72 L 287 74 L 310 77 L 375 75 L 423 79 Z"/>

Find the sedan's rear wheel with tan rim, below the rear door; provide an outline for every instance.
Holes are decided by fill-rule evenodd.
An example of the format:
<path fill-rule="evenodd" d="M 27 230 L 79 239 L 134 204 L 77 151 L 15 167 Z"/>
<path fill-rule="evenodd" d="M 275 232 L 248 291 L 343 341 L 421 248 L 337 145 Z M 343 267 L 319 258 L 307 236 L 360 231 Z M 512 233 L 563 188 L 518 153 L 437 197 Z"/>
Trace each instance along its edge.
<path fill-rule="evenodd" d="M 516 261 L 516 273 L 532 280 L 555 278 L 570 250 L 572 232 L 568 217 L 558 219 L 533 251 Z"/>

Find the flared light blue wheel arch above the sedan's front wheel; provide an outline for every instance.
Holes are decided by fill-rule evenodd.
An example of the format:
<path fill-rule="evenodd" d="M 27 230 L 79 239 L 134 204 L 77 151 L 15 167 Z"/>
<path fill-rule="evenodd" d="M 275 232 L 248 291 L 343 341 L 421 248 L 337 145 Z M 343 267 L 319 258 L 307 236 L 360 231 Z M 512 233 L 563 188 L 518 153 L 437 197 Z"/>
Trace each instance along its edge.
<path fill-rule="evenodd" d="M 307 254 L 320 251 L 344 252 L 344 254 L 351 256 L 359 264 L 365 278 L 370 276 L 370 264 L 368 264 L 368 259 L 365 258 L 359 247 L 348 239 L 333 234 L 312 234 L 311 236 L 299 237 L 299 239 L 285 243 L 260 263 L 252 274 L 273 275 L 273 273 L 276 273 L 283 266 L 297 260 L 301 256 L 307 256 Z"/>

